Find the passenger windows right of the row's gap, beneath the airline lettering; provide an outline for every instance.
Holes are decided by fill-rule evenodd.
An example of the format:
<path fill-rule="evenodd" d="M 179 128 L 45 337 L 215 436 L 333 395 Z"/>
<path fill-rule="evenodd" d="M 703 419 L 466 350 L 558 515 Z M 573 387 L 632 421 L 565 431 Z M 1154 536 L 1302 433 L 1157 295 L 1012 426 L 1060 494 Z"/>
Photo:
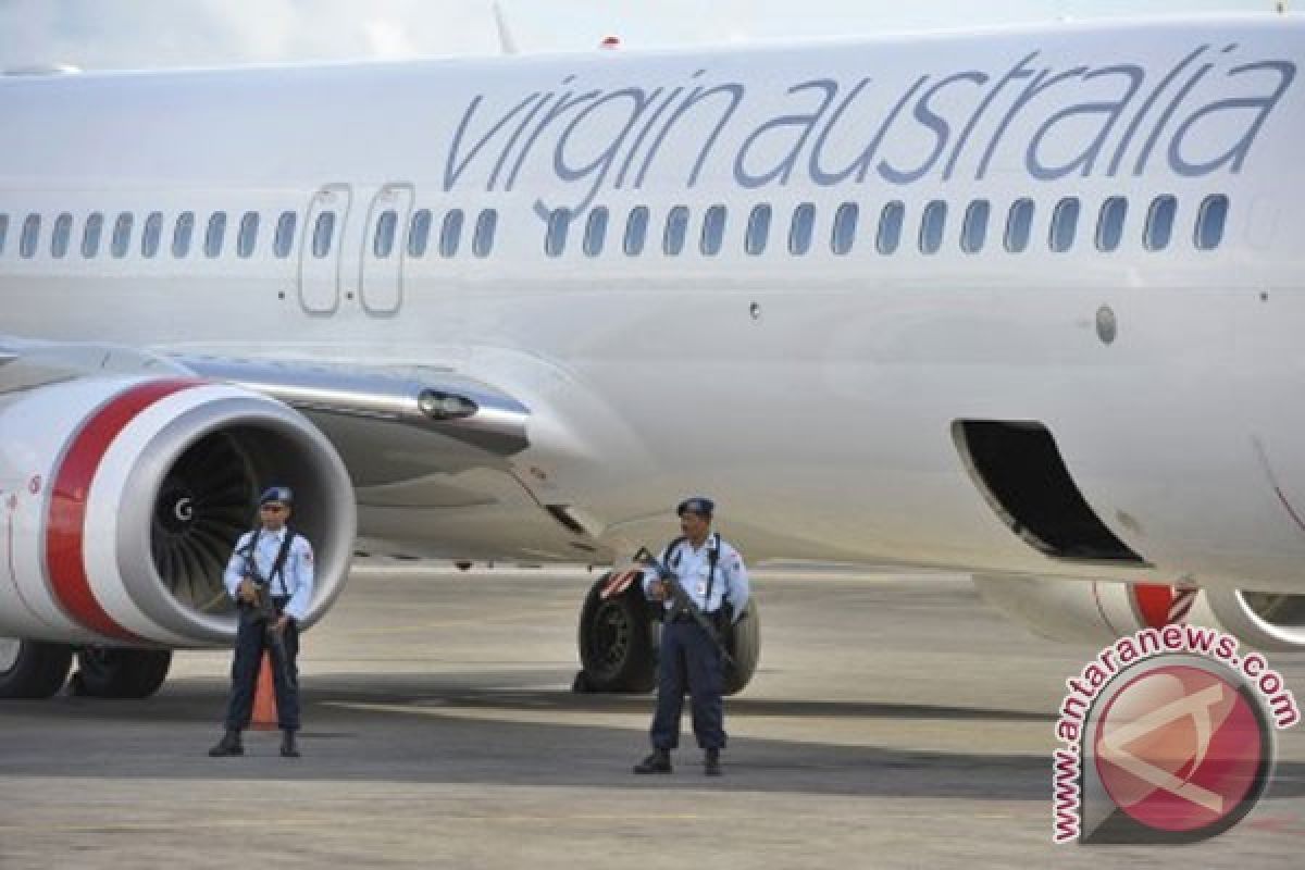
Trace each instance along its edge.
<path fill-rule="evenodd" d="M 1129 205 L 1128 197 L 1109 197 L 1101 203 L 1096 214 L 1095 245 L 1098 250 L 1113 252 L 1124 243 Z M 942 249 L 949 209 L 950 203 L 942 200 L 925 203 L 920 213 L 920 228 L 916 239 L 920 253 L 933 254 Z M 1151 201 L 1142 227 L 1143 248 L 1164 250 L 1171 245 L 1177 210 L 1178 201 L 1173 196 L 1159 196 Z M 1007 252 L 1022 253 L 1028 249 L 1034 239 L 1035 211 L 1036 206 L 1028 198 L 1017 200 L 1010 205 L 1005 214 L 1002 232 L 1002 247 Z M 1078 197 L 1065 197 L 1052 207 L 1047 224 L 1047 247 L 1051 250 L 1064 253 L 1078 244 L 1082 211 L 1083 203 Z M 753 206 L 743 233 L 743 249 L 748 254 L 761 256 L 766 252 L 775 217 L 775 209 L 769 203 Z M 889 202 L 880 210 L 877 226 L 870 228 L 878 253 L 894 254 L 900 249 L 903 235 L 907 232 L 906 218 L 907 210 L 902 202 Z M 1193 245 L 1201 250 L 1218 248 L 1223 241 L 1227 218 L 1228 197 L 1223 194 L 1206 197 L 1197 213 L 1191 236 Z M 724 247 L 727 220 L 728 210 L 723 205 L 710 206 L 702 213 L 698 233 L 699 253 L 706 257 L 720 253 Z M 851 253 L 859 237 L 860 220 L 861 207 L 857 203 L 844 202 L 838 206 L 830 224 L 830 250 L 835 254 Z M 581 236 L 581 249 L 586 256 L 598 257 L 603 253 L 611 222 L 612 215 L 607 207 L 590 209 Z M 544 252 L 549 257 L 561 257 L 566 253 L 573 223 L 576 223 L 576 215 L 566 209 L 557 209 L 549 214 L 544 235 Z M 793 256 L 810 253 L 816 239 L 814 203 L 805 202 L 796 206 L 787 223 L 788 253 Z M 960 249 L 971 254 L 984 250 L 989 245 L 992 224 L 992 203 L 988 200 L 971 201 L 966 206 L 960 222 Z M 660 227 L 662 253 L 668 257 L 683 254 L 688 247 L 689 227 L 690 211 L 688 206 L 669 209 L 666 213 L 664 226 Z M 630 257 L 642 254 L 647 248 L 650 232 L 654 230 L 647 206 L 636 206 L 625 219 L 622 236 L 625 253 Z"/>

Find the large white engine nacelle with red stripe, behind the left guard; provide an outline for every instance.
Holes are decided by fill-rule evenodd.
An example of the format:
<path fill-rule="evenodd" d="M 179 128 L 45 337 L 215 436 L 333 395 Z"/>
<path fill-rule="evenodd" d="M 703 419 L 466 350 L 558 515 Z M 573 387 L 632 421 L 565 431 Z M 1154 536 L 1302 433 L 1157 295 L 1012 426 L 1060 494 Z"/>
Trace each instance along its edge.
<path fill-rule="evenodd" d="M 188 378 L 86 377 L 0 404 L 0 637 L 227 644 L 222 573 L 260 487 L 313 544 L 307 622 L 339 595 L 356 514 L 330 442 L 281 402 Z"/>

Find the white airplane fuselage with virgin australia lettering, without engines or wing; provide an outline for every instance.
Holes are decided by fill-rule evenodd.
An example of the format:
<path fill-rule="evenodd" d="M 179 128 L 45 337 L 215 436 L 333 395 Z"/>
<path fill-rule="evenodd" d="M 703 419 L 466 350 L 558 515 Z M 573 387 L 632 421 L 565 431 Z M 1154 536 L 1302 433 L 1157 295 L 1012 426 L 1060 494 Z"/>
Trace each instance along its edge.
<path fill-rule="evenodd" d="M 0 334 L 454 369 L 531 410 L 531 447 L 500 475 L 508 489 L 531 509 L 574 507 L 617 549 L 659 539 L 676 501 L 705 493 L 752 560 L 1305 591 L 1292 515 L 1305 507 L 1302 56 L 1305 21 L 1272 16 L 0 78 Z M 1150 250 L 1148 211 L 1167 196 L 1172 237 Z M 1103 250 L 1111 197 L 1126 219 Z M 1228 210 L 1206 250 L 1195 236 L 1211 197 Z M 1004 236 L 1023 198 L 1031 232 L 1013 253 Z M 1067 198 L 1077 231 L 1053 250 Z M 976 201 L 981 245 L 963 239 Z M 883 253 L 893 202 L 903 227 Z M 925 214 L 942 207 L 930 202 L 946 209 L 932 253 Z M 804 203 L 805 253 L 791 231 Z M 844 203 L 857 220 L 839 253 Z M 720 249 L 703 253 L 718 205 Z M 771 207 L 767 244 L 749 253 L 758 205 Z M 676 206 L 688 232 L 668 254 Z M 600 253 L 582 241 L 594 207 L 608 214 Z M 551 253 L 556 209 L 574 220 Z M 646 243 L 629 254 L 638 209 Z M 322 210 L 338 220 L 317 257 Z M 378 256 L 390 210 L 394 250 Z M 422 210 L 429 243 L 414 256 Z M 442 256 L 450 210 L 465 226 Z M 478 256 L 484 210 L 493 244 Z M 251 211 L 260 226 L 243 256 Z M 296 226 L 279 258 L 284 211 Z M 70 243 L 56 257 L 64 213 Z M 94 213 L 103 237 L 84 256 Z M 161 243 L 144 256 L 151 213 Z M 183 213 L 193 239 L 175 256 Z M 214 213 L 226 231 L 207 256 Z M 23 256 L 29 215 L 40 223 Z M 1112 316 L 1107 342 L 1099 320 Z M 1028 547 L 968 473 L 957 420 L 1047 427 L 1087 503 L 1150 567 Z M 372 510 L 365 488 L 359 501 L 364 537 L 566 556 L 483 506 Z"/>

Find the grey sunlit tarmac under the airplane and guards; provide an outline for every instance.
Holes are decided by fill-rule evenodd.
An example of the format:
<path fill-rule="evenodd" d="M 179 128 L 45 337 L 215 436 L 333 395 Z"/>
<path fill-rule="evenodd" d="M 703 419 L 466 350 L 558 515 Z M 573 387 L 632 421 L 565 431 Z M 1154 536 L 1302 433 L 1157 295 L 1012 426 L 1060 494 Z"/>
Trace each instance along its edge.
<path fill-rule="evenodd" d="M 577 695 L 596 575 L 364 565 L 304 638 L 301 759 L 210 759 L 230 655 L 149 700 L 0 702 L 0 867 L 1298 867 L 1305 729 L 1268 794 L 1188 847 L 1056 847 L 1064 681 L 967 578 L 754 574 L 761 667 L 726 775 L 688 713 L 671 776 L 630 772 L 651 697 Z M 1268 656 L 1305 700 L 1305 653 Z"/>

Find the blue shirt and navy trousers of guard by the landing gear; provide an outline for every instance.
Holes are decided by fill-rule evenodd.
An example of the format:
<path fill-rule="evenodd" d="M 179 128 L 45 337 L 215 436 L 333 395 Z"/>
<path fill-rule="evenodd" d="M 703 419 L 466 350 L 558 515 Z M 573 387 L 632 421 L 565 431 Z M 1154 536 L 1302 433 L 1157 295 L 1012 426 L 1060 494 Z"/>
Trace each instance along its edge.
<path fill-rule="evenodd" d="M 715 579 L 711 578 L 711 553 L 719 547 Z M 724 601 L 733 608 L 735 620 L 743 616 L 748 604 L 748 569 L 739 552 L 720 540 L 718 533 L 707 535 L 702 547 L 694 549 L 684 540 L 662 550 L 662 563 L 675 571 L 684 591 L 698 608 L 714 616 Z M 643 592 L 649 593 L 656 573 L 645 571 Z M 671 610 L 671 603 L 666 609 Z M 688 613 L 667 620 L 662 629 L 662 650 L 658 670 L 656 715 L 652 717 L 652 747 L 672 750 L 680 743 L 680 712 L 684 708 L 684 689 L 689 687 L 693 706 L 693 734 L 702 749 L 724 749 L 724 664 L 720 652 L 707 633 Z"/>

